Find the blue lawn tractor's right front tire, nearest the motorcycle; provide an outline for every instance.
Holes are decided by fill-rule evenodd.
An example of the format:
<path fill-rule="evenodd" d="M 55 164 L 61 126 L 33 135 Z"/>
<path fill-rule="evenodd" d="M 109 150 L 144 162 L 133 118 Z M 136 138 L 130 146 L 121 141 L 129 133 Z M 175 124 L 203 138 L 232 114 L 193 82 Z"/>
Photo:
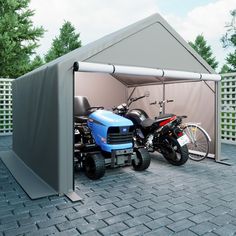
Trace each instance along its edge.
<path fill-rule="evenodd" d="M 151 156 L 147 149 L 145 148 L 139 148 L 136 151 L 136 156 L 137 156 L 137 162 L 135 160 L 132 160 L 132 166 L 134 170 L 136 171 L 143 171 L 146 170 L 151 163 Z"/>

